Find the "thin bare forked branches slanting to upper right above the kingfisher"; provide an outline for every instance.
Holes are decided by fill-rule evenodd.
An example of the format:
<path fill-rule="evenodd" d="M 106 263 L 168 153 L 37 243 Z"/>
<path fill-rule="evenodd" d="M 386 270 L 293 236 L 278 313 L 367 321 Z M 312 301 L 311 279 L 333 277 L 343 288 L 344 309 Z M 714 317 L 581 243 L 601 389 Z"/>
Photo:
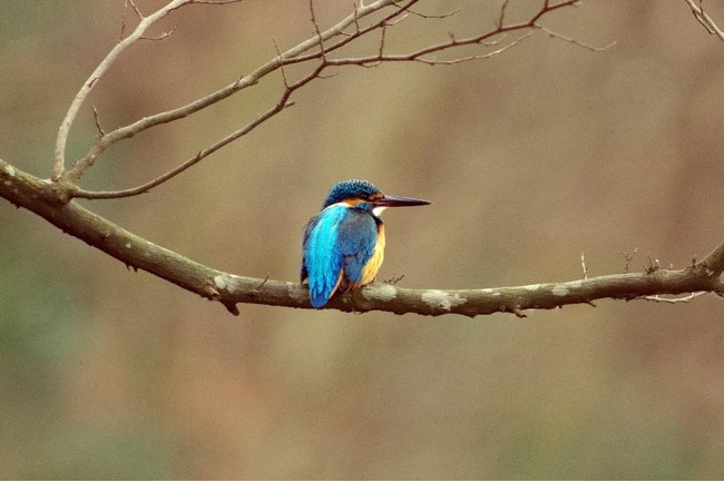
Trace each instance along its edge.
<path fill-rule="evenodd" d="M 188 1 L 188 0 L 187 0 Z M 332 28 L 322 31 L 320 28 L 315 13 L 314 13 L 314 4 L 313 0 L 310 0 L 310 11 L 311 11 L 311 18 L 312 18 L 312 23 L 314 24 L 314 30 L 315 30 L 315 36 L 311 37 L 310 39 L 305 40 L 304 42 L 297 45 L 296 47 L 288 49 L 285 52 L 281 52 L 278 47 L 275 46 L 276 51 L 277 51 L 277 57 L 275 59 L 270 60 L 267 63 L 255 70 L 254 72 L 242 77 L 234 83 L 227 86 L 224 89 L 221 89 L 205 98 L 198 99 L 183 108 L 174 109 L 172 111 L 167 112 L 160 112 L 155 116 L 150 116 L 147 118 L 144 118 L 137 122 L 134 122 L 129 126 L 126 126 L 124 128 L 116 129 L 109 134 L 102 134 L 99 138 L 99 141 L 91 148 L 91 150 L 80 160 L 76 163 L 74 168 L 70 170 L 68 174 L 68 178 L 70 179 L 71 183 L 76 183 L 80 176 L 92 166 L 95 163 L 95 159 L 101 155 L 105 149 L 128 137 L 134 136 L 135 134 L 148 129 L 150 127 L 154 127 L 158 124 L 163 122 L 170 122 L 174 120 L 177 120 L 180 117 L 185 117 L 188 115 L 192 115 L 205 107 L 211 106 L 212 104 L 215 104 L 217 101 L 223 100 L 224 98 L 231 96 L 232 94 L 242 90 L 246 87 L 255 85 L 261 78 L 267 76 L 272 71 L 276 69 L 282 69 L 282 77 L 284 80 L 285 85 L 285 91 L 281 96 L 282 100 L 280 100 L 275 106 L 270 108 L 266 112 L 260 115 L 256 119 L 247 124 L 246 126 L 242 127 L 241 129 L 236 130 L 235 132 L 226 136 L 225 138 L 218 140 L 214 145 L 202 149 L 198 151 L 195 156 L 192 158 L 187 159 L 183 164 L 178 165 L 177 167 L 170 169 L 166 174 L 156 177 L 155 179 L 151 179 L 147 183 L 144 183 L 137 187 L 134 188 L 128 188 L 128 189 L 120 189 L 120 190 L 110 190 L 110 191 L 89 191 L 81 189 L 77 186 L 72 186 L 70 197 L 81 197 L 81 198 L 87 198 L 87 199 L 112 199 L 112 198 L 120 198 L 120 197 L 128 197 L 128 196 L 135 196 L 138 194 L 143 194 L 148 191 L 149 189 L 167 181 L 168 179 L 175 177 L 176 175 L 183 173 L 184 170 L 188 169 L 189 167 L 196 165 L 198 161 L 202 159 L 206 158 L 211 154 L 215 153 L 219 148 L 228 145 L 229 142 L 238 139 L 239 137 L 248 134 L 251 130 L 256 128 L 258 125 L 262 122 L 266 121 L 271 117 L 275 116 L 280 111 L 283 110 L 284 107 L 291 105 L 292 102 L 288 101 L 288 97 L 291 94 L 296 90 L 297 88 L 311 82 L 312 80 L 316 78 L 324 78 L 329 76 L 322 76 L 322 71 L 326 67 L 332 67 L 332 66 L 342 66 L 342 65 L 361 65 L 369 67 L 371 65 L 376 65 L 381 61 L 404 61 L 404 60 L 412 60 L 412 61 L 420 61 L 424 63 L 430 63 L 430 65 L 436 65 L 436 63 L 458 63 L 458 62 L 463 62 L 463 61 L 469 61 L 469 60 L 474 60 L 474 59 L 483 59 L 483 58 L 489 58 L 496 55 L 499 55 L 503 52 L 505 50 L 516 46 L 517 43 L 521 42 L 522 40 L 527 39 L 531 33 L 528 32 L 527 35 L 508 42 L 506 46 L 501 47 L 500 49 L 490 51 L 485 55 L 476 55 L 476 56 L 469 56 L 469 57 L 461 57 L 461 58 L 456 58 L 452 60 L 433 60 L 433 59 L 428 59 L 423 57 L 427 53 L 430 52 L 436 52 L 436 51 L 443 51 L 443 50 L 450 50 L 457 47 L 461 46 L 467 46 L 467 45 L 495 45 L 500 41 L 498 39 L 497 41 L 489 41 L 490 38 L 499 35 L 503 35 L 508 31 L 513 31 L 513 30 L 522 30 L 522 29 L 530 29 L 530 28 L 540 28 L 541 27 L 537 26 L 535 22 L 541 18 L 544 14 L 560 9 L 562 7 L 568 7 L 568 6 L 574 6 L 576 4 L 575 0 L 566 0 L 556 4 L 545 4 L 540 11 L 538 11 L 531 20 L 528 22 L 524 23 L 517 23 L 512 26 L 498 26 L 498 28 L 486 32 L 481 36 L 473 37 L 470 39 L 463 39 L 463 40 L 457 40 L 453 36 L 451 36 L 451 39 L 449 42 L 436 45 L 436 46 L 430 46 L 427 48 L 423 48 L 421 50 L 418 50 L 417 52 L 412 52 L 409 55 L 404 56 L 388 56 L 384 55 L 384 39 L 385 39 L 385 32 L 387 28 L 389 26 L 393 26 L 400 20 L 404 18 L 407 12 L 411 11 L 411 8 L 418 2 L 418 0 L 408 0 L 404 3 L 399 3 L 394 2 L 391 0 L 381 0 L 374 3 L 371 3 L 365 7 L 359 7 L 355 4 L 354 12 L 345 18 L 343 21 L 339 22 L 337 24 L 333 26 Z M 505 12 L 506 3 L 503 3 L 501 8 L 501 12 Z M 373 11 L 380 10 L 384 7 L 389 6 L 394 6 L 393 11 L 384 16 L 383 18 L 372 22 L 371 24 L 361 28 L 359 20 L 372 13 Z M 442 18 L 448 17 L 450 14 L 453 14 L 454 12 L 447 13 L 444 16 L 440 16 Z M 424 16 L 420 14 L 418 12 L 414 12 L 414 14 L 423 17 L 423 18 L 433 18 L 432 16 Z M 502 19 L 502 13 L 501 13 L 501 19 Z M 346 29 L 349 26 L 354 24 L 355 26 L 355 31 L 353 33 L 349 35 L 343 35 L 344 29 Z M 371 56 L 368 58 L 362 58 L 362 59 L 330 59 L 327 56 L 330 52 L 340 49 L 344 45 L 351 42 L 354 39 L 359 39 L 360 37 L 368 35 L 371 31 L 381 29 L 382 35 L 381 35 L 381 40 L 380 40 L 380 46 L 376 56 Z M 548 35 L 554 36 L 554 37 L 559 37 L 564 40 L 580 45 L 583 47 L 590 48 L 591 50 L 601 50 L 597 48 L 593 48 L 589 46 L 586 46 L 584 43 L 577 42 L 573 39 L 568 39 L 562 36 L 558 36 L 555 32 L 551 32 L 547 29 L 545 30 Z M 325 41 L 333 39 L 333 38 L 339 38 L 343 37 L 341 40 L 336 41 L 335 43 L 331 46 L 325 46 Z M 313 49 L 314 47 L 317 48 L 315 52 L 312 53 L 306 53 L 304 55 L 305 51 Z M 608 48 L 608 47 L 606 47 Z M 300 82 L 295 83 L 295 87 L 290 89 L 288 81 L 286 79 L 286 75 L 284 72 L 284 66 L 287 63 L 297 63 L 297 62 L 303 62 L 303 61 L 309 61 L 309 60 L 316 60 L 317 67 L 312 70 L 311 75 L 305 76 L 303 79 L 301 79 Z"/>

